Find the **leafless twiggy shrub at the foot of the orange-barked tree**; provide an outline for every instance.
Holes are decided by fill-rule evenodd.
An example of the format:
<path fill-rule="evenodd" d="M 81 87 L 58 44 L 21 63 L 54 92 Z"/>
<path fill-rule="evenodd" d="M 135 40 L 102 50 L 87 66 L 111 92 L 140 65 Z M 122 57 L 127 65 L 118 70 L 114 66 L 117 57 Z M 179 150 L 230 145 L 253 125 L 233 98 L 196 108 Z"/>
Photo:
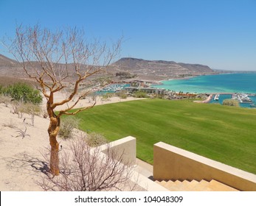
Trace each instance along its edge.
<path fill-rule="evenodd" d="M 44 157 L 48 161 L 47 155 Z M 92 148 L 79 138 L 60 152 L 60 175 L 46 173 L 38 185 L 44 191 L 133 191 L 137 189 L 136 182 L 130 180 L 134 167 L 122 161 L 123 154 L 109 145 L 103 154 L 100 147 Z"/>

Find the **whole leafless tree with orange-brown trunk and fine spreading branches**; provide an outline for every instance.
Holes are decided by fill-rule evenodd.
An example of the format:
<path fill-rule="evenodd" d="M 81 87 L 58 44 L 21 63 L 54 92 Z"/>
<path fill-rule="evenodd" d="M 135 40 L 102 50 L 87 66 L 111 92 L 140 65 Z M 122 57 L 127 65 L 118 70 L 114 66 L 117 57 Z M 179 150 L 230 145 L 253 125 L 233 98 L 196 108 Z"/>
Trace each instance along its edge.
<path fill-rule="evenodd" d="M 60 129 L 60 116 L 75 115 L 94 106 L 95 102 L 89 107 L 70 111 L 80 99 L 91 93 L 91 90 L 86 90 L 78 95 L 80 83 L 108 68 L 120 50 L 121 40 L 111 43 L 111 46 L 99 40 L 91 43 L 86 41 L 83 30 L 63 29 L 52 32 L 49 29 L 41 29 L 38 25 L 17 26 L 15 34 L 15 38 L 5 45 L 21 63 L 28 77 L 39 83 L 38 89 L 46 98 L 46 110 L 50 119 L 50 169 L 52 174 L 58 175 L 59 143 L 56 137 Z M 69 77 L 75 77 L 72 90 L 62 101 L 55 102 L 55 93 L 66 88 L 64 82 Z M 71 104 L 66 104 L 68 102 Z M 60 105 L 66 105 L 66 108 L 55 113 Z"/>

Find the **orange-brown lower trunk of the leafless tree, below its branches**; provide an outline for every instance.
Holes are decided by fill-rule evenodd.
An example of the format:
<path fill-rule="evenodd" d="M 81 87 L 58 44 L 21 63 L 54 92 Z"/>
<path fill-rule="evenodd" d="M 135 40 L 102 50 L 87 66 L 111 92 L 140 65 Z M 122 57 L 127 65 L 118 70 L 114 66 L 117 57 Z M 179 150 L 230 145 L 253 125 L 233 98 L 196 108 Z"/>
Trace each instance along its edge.
<path fill-rule="evenodd" d="M 48 134 L 49 134 L 49 143 L 51 146 L 51 157 L 50 157 L 50 171 L 52 175 L 58 176 L 60 174 L 60 168 L 59 168 L 59 143 L 57 141 L 57 135 L 58 131 L 60 129 L 60 118 L 58 117 L 51 117 L 49 128 L 48 128 Z"/>

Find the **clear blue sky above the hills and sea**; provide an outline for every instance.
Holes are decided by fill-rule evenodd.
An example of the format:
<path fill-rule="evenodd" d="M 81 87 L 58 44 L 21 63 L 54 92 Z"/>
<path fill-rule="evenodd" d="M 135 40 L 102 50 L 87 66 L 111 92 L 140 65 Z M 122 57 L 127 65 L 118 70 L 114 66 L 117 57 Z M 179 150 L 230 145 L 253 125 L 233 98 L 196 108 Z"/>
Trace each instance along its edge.
<path fill-rule="evenodd" d="M 103 40 L 124 35 L 120 57 L 256 71 L 255 11 L 256 0 L 0 0 L 0 38 L 16 23 L 77 26 Z"/>

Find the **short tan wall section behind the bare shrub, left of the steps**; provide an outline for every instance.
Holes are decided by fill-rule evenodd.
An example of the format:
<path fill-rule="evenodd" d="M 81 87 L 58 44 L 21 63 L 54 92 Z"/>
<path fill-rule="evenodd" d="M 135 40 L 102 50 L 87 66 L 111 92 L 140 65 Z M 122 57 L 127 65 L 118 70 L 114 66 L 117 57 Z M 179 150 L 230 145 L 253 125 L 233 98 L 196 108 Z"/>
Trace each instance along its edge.
<path fill-rule="evenodd" d="M 107 145 L 101 146 L 104 152 Z M 110 143 L 111 150 L 117 152 L 117 157 L 122 155 L 122 163 L 134 165 L 136 163 L 136 138 L 128 136 Z"/>

